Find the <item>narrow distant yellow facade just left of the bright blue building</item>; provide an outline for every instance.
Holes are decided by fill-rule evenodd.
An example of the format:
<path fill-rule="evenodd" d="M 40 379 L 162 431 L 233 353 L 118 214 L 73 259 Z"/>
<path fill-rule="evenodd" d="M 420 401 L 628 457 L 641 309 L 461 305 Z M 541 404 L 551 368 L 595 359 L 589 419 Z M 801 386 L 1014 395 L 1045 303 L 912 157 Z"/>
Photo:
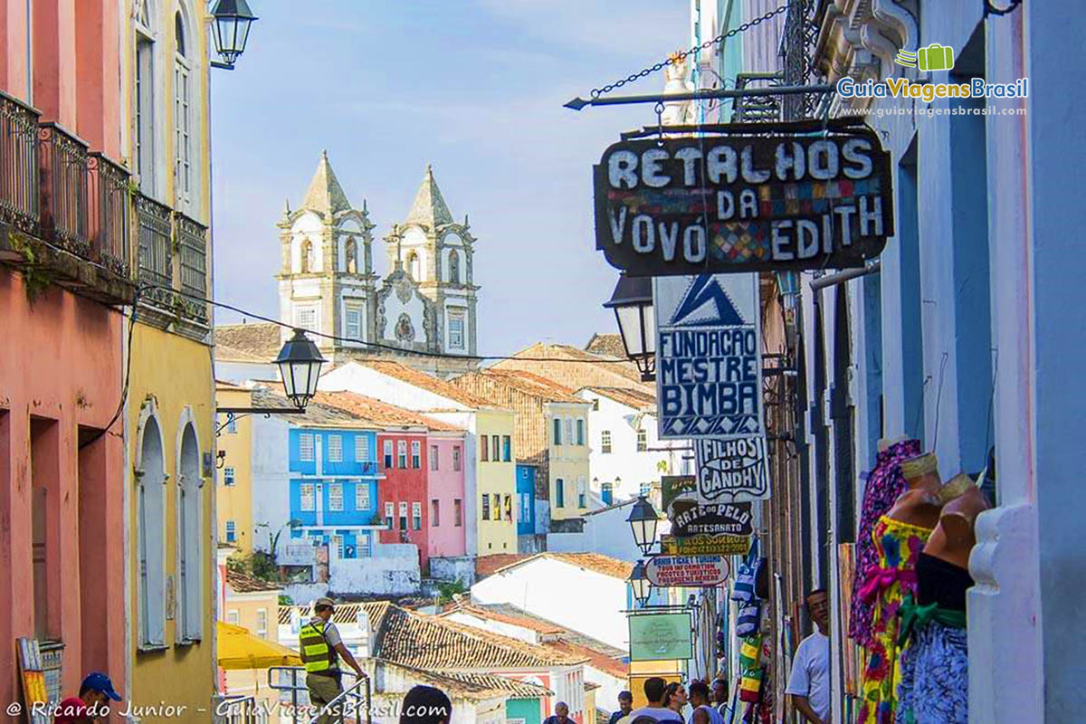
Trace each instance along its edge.
<path fill-rule="evenodd" d="M 215 402 L 219 407 L 252 407 L 253 397 L 249 390 L 219 383 Z M 223 456 L 215 471 L 218 539 L 248 555 L 253 551 L 252 422 L 239 416 L 231 423 L 219 415 L 217 428 L 218 455 Z"/>

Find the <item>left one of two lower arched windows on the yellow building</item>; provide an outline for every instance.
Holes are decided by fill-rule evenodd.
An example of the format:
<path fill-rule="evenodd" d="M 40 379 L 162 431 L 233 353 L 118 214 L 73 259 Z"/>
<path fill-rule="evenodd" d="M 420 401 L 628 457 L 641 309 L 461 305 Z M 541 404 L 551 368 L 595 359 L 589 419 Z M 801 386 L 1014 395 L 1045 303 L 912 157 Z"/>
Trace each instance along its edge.
<path fill-rule="evenodd" d="M 143 423 L 136 473 L 139 646 L 153 648 L 166 644 L 166 473 L 162 432 L 154 417 L 148 417 Z"/>

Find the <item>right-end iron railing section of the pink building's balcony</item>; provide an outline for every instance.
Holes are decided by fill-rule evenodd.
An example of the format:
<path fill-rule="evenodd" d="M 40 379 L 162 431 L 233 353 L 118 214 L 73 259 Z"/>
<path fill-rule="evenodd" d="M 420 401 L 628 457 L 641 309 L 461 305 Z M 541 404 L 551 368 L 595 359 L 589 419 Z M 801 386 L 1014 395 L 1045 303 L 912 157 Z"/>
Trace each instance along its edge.
<path fill-rule="evenodd" d="M 101 153 L 87 161 L 90 185 L 90 239 L 97 261 L 122 277 L 131 275 L 128 264 L 131 202 L 128 172 Z"/>

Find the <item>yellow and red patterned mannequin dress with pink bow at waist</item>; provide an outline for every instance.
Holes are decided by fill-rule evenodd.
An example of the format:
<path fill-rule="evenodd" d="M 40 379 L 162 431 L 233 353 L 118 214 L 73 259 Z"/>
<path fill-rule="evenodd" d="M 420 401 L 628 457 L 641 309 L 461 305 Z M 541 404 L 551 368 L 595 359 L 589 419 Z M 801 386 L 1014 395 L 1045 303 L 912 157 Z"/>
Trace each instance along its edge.
<path fill-rule="evenodd" d="M 869 572 L 859 595 L 872 606 L 871 642 L 863 670 L 859 724 L 893 724 L 897 685 L 901 681 L 897 611 L 907 594 L 917 593 L 917 559 L 932 529 L 883 516 L 871 532 L 879 566 Z"/>

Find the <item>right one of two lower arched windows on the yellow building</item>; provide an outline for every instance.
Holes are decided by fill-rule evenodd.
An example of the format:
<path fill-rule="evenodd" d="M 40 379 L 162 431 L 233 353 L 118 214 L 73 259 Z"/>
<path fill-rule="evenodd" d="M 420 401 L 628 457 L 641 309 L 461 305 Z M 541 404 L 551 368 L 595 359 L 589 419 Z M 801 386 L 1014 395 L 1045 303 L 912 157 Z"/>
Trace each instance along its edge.
<path fill-rule="evenodd" d="M 181 435 L 177 480 L 177 638 L 200 640 L 203 620 L 200 444 L 189 422 Z"/>

